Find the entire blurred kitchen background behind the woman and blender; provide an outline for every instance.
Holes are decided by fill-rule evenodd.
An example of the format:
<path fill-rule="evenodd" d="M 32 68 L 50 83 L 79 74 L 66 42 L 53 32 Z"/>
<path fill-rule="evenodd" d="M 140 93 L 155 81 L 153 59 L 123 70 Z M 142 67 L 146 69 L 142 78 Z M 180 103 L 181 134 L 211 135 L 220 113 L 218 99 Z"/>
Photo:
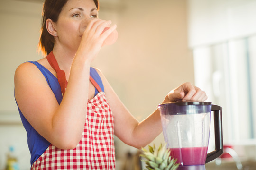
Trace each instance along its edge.
<path fill-rule="evenodd" d="M 170 90 L 191 82 L 206 91 L 208 102 L 222 106 L 224 144 L 235 151 L 223 161 L 210 162 L 208 169 L 239 169 L 239 162 L 243 169 L 253 169 L 256 0 L 99 2 L 99 17 L 117 24 L 119 38 L 102 48 L 93 66 L 101 69 L 130 112 L 143 120 Z M 14 148 L 20 170 L 30 168 L 13 79 L 19 64 L 43 57 L 37 52 L 42 4 L 43 0 L 0 0 L 0 170 L 9 147 Z M 152 144 L 163 142 L 160 134 Z M 139 167 L 137 149 L 117 138 L 115 147 L 117 170 Z"/>

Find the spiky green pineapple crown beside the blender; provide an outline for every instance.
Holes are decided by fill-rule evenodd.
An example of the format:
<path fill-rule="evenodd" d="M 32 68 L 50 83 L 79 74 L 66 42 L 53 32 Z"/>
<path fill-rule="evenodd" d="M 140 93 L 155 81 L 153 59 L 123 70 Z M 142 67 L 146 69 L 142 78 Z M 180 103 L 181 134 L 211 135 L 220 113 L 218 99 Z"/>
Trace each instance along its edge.
<path fill-rule="evenodd" d="M 179 163 L 176 163 L 177 159 L 170 156 L 171 151 L 166 149 L 166 144 L 162 146 L 160 144 L 158 149 L 148 145 L 149 151 L 142 148 L 143 154 L 140 156 L 145 158 L 142 159 L 146 163 L 147 170 L 176 170 Z"/>

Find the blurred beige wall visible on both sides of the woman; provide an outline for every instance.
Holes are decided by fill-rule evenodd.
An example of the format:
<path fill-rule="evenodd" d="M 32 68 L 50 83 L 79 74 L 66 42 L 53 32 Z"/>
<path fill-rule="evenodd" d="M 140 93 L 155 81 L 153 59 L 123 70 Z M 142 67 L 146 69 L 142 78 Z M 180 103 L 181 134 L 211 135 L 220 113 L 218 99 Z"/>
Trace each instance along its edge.
<path fill-rule="evenodd" d="M 118 25 L 119 39 L 103 47 L 93 65 L 105 74 L 131 113 L 142 120 L 171 89 L 194 81 L 192 53 L 187 48 L 186 0 L 113 0 L 118 4 L 111 6 L 107 2 L 101 4 L 100 17 Z M 109 7 L 121 9 L 110 11 Z M 18 147 L 27 149 L 26 132 L 17 117 L 13 76 L 20 63 L 41 58 L 37 54 L 41 8 L 40 3 L 0 0 L 0 169 L 8 141 L 13 141 L 10 135 L 18 136 Z M 160 142 L 164 142 L 162 135 L 154 141 L 156 145 Z M 117 156 L 124 157 L 129 149 L 118 142 Z M 24 154 L 29 159 L 29 153 Z M 22 167 L 27 169 L 29 164 Z"/>

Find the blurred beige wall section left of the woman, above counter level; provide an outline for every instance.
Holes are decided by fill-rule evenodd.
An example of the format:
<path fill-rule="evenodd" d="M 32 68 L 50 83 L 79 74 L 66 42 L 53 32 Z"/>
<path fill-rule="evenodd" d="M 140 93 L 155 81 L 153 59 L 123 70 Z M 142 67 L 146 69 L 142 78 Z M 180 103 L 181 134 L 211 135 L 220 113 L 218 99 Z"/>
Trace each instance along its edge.
<path fill-rule="evenodd" d="M 14 71 L 27 60 L 37 60 L 42 5 L 0 0 L 0 111 L 16 112 Z"/>

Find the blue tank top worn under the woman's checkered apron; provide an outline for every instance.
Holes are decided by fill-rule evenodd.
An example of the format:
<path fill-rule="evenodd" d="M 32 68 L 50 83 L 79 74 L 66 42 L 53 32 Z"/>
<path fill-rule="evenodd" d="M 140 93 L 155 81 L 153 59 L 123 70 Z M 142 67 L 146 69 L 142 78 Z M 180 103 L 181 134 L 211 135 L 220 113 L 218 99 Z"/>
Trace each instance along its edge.
<path fill-rule="evenodd" d="M 58 79 L 48 69 L 46 69 L 44 66 L 42 66 L 38 62 L 34 62 L 34 61 L 29 61 L 29 62 L 35 64 L 37 68 L 45 76 L 49 87 L 52 89 L 58 103 L 60 104 L 62 101 L 62 93 L 61 93 L 61 87 L 59 85 Z M 99 74 L 94 68 L 90 68 L 90 76 L 101 87 L 102 92 L 104 92 L 104 86 L 102 84 L 101 77 L 99 76 Z M 98 93 L 99 91 L 95 88 L 94 96 L 97 95 Z M 46 151 L 50 143 L 43 136 L 39 135 L 37 131 L 29 124 L 27 119 L 23 116 L 22 112 L 20 111 L 19 107 L 18 107 L 18 111 L 19 111 L 22 124 L 27 131 L 27 144 L 31 154 L 30 164 L 32 165 Z"/>

